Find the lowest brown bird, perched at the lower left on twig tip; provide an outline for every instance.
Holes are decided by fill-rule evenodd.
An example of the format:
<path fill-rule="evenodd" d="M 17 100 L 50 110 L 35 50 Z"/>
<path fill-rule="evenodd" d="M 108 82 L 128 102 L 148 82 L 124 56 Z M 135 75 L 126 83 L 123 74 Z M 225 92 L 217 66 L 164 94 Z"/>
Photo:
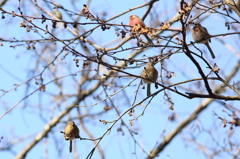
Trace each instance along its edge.
<path fill-rule="evenodd" d="M 79 129 L 75 125 L 74 121 L 69 121 L 64 128 L 64 138 L 65 140 L 70 140 L 69 152 L 72 152 L 72 140 L 75 138 L 80 138 Z"/>

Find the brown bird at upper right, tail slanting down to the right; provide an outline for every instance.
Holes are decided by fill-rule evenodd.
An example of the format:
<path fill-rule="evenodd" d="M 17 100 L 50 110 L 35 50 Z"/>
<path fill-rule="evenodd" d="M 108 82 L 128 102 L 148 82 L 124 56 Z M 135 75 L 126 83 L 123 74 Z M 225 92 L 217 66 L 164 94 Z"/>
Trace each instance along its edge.
<path fill-rule="evenodd" d="M 211 53 L 212 58 L 215 58 L 215 55 L 209 45 L 208 42 L 211 42 L 210 34 L 208 33 L 207 29 L 201 24 L 195 24 L 192 29 L 192 38 L 195 42 L 201 43 L 207 46 L 209 52 Z"/>

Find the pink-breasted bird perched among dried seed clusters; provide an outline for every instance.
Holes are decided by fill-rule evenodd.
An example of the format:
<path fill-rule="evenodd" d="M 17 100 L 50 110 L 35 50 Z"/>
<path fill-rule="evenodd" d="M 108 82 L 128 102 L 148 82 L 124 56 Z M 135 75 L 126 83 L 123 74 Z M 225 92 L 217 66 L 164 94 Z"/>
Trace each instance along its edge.
<path fill-rule="evenodd" d="M 146 25 L 143 23 L 142 19 L 140 19 L 137 15 L 130 15 L 129 16 L 129 25 L 131 26 L 135 26 L 135 25 L 139 25 L 141 27 L 145 27 Z M 130 27 L 130 30 L 132 30 L 133 27 Z M 147 39 L 147 41 L 149 42 L 149 44 L 153 44 L 152 40 L 148 37 L 148 35 L 146 33 L 143 33 L 143 35 L 145 36 L 145 38 Z"/>

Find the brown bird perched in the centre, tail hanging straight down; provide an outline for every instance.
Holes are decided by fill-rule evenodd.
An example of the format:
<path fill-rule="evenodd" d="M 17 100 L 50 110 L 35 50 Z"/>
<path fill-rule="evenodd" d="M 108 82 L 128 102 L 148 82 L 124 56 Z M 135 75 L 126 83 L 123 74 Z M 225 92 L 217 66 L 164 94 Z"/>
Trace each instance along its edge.
<path fill-rule="evenodd" d="M 144 83 L 147 84 L 147 96 L 151 95 L 151 83 L 157 81 L 158 71 L 154 67 L 152 62 L 148 62 L 147 65 L 143 68 L 141 72 L 141 77 L 146 78 L 142 79 Z M 148 80 L 147 80 L 148 79 Z"/>

